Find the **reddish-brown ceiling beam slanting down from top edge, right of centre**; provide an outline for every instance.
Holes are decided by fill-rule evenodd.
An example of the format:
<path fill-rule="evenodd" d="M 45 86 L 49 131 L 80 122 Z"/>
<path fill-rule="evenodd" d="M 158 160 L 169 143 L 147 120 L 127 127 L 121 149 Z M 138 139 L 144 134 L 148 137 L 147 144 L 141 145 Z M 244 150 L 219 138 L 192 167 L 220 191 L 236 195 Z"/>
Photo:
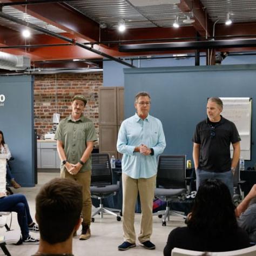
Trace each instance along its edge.
<path fill-rule="evenodd" d="M 182 12 L 193 11 L 195 22 L 192 26 L 198 31 L 200 36 L 212 36 L 213 23 L 209 18 L 204 5 L 199 0 L 180 0 L 178 5 Z"/>

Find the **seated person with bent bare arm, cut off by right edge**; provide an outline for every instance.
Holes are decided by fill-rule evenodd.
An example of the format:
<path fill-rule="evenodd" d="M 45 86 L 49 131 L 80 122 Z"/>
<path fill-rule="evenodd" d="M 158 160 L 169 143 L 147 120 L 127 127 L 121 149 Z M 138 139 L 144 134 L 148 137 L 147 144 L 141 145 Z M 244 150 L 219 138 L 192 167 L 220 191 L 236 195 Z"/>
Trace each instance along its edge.
<path fill-rule="evenodd" d="M 256 184 L 235 209 L 238 225 L 247 232 L 250 240 L 256 243 Z"/>

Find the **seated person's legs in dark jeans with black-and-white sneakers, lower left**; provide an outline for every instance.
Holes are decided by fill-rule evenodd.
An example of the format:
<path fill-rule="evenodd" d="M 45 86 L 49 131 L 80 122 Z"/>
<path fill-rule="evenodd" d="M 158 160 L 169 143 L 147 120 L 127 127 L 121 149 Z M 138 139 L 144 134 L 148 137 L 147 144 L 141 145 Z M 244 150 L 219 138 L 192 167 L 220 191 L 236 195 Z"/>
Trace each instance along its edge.
<path fill-rule="evenodd" d="M 29 231 L 38 232 L 39 228 L 31 218 L 28 201 L 23 194 L 12 194 L 6 196 L 0 192 L 0 212 L 17 212 L 18 224 L 21 228 L 22 238 L 17 242 L 20 244 L 39 244 L 39 240 L 32 238 Z"/>

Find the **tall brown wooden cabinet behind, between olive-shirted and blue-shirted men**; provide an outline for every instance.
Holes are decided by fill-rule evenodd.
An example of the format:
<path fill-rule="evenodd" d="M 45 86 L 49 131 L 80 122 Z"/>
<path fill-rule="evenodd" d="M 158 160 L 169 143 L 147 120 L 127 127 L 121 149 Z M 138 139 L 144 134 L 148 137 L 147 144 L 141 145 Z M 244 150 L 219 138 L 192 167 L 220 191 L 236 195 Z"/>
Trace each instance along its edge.
<path fill-rule="evenodd" d="M 102 87 L 99 90 L 99 152 L 120 159 L 117 135 L 124 120 L 124 87 Z"/>

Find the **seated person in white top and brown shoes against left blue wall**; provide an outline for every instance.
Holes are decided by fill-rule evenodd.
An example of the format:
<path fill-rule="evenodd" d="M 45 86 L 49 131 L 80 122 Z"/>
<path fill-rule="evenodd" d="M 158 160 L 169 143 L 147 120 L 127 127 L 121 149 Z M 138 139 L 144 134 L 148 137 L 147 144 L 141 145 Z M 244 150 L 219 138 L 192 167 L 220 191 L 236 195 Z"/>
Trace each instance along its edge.
<path fill-rule="evenodd" d="M 4 142 L 3 132 L 0 131 L 0 159 L 10 160 L 10 158 L 11 158 L 11 152 L 9 150 L 8 145 Z M 12 175 L 8 165 L 6 165 L 6 179 L 10 181 L 11 185 L 14 188 L 21 187 L 21 185 L 19 185 L 17 181 L 14 179 L 14 176 Z"/>

